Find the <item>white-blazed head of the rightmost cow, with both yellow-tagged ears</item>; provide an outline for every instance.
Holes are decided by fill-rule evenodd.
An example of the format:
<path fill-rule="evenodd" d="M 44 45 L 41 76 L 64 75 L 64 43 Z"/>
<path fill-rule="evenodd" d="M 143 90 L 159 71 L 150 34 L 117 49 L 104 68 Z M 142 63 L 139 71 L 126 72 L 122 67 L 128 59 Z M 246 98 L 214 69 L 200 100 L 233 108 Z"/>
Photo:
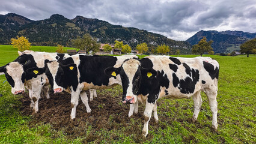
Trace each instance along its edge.
<path fill-rule="evenodd" d="M 143 80 L 152 79 L 157 75 L 153 69 L 143 68 L 138 59 L 128 59 L 121 67 L 108 67 L 105 74 L 115 77 L 120 74 L 123 86 L 123 103 L 135 103 Z"/>

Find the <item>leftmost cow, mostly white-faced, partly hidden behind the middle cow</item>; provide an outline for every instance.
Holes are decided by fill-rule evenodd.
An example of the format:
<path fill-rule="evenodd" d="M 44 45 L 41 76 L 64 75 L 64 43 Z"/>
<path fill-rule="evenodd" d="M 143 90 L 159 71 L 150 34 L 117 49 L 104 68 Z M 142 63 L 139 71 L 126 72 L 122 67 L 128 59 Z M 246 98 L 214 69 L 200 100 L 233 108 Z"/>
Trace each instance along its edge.
<path fill-rule="evenodd" d="M 60 53 L 45 53 L 34 52 L 32 50 L 25 50 L 18 52 L 19 57 L 13 62 L 0 67 L 0 73 L 4 73 L 8 83 L 11 85 L 11 92 L 13 94 L 22 94 L 25 92 L 25 87 L 28 88 L 29 98 L 31 98 L 30 106 L 33 107 L 33 113 L 38 112 L 38 100 L 41 92 L 49 98 L 49 81 L 45 74 L 35 76 L 26 73 L 26 70 L 31 67 L 44 67 L 44 60 L 62 59 L 69 57 Z M 35 71 L 37 73 L 37 71 Z"/>

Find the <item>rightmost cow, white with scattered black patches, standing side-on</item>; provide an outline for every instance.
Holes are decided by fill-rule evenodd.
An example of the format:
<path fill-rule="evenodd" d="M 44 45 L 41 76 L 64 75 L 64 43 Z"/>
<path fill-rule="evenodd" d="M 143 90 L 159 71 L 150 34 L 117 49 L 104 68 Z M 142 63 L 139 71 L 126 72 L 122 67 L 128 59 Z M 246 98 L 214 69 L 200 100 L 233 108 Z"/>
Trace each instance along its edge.
<path fill-rule="evenodd" d="M 123 83 L 123 103 L 145 103 L 145 124 L 142 135 L 148 134 L 148 121 L 152 110 L 156 111 L 159 98 L 189 98 L 194 100 L 193 121 L 197 121 L 202 103 L 200 92 L 206 93 L 213 120 L 217 128 L 217 91 L 219 64 L 212 58 L 173 58 L 170 56 L 147 56 L 143 59 L 129 59 L 121 67 L 106 68 L 111 76 L 120 74 Z M 157 114 L 154 114 L 157 121 Z"/>

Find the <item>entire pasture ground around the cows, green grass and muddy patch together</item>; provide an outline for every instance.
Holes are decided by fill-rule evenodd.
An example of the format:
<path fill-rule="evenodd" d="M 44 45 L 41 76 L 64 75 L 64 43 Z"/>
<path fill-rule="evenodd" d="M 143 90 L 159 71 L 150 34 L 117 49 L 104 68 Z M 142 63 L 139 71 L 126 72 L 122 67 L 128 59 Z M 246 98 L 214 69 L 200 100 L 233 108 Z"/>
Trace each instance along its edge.
<path fill-rule="evenodd" d="M 55 52 L 55 47 L 37 47 Z M 0 45 L 0 66 L 17 58 L 17 49 Z M 180 55 L 195 57 L 199 55 Z M 31 116 L 28 92 L 11 94 L 11 86 L 0 76 L 0 143 L 256 143 L 256 56 L 210 56 L 220 65 L 218 131 L 212 130 L 212 112 L 207 97 L 198 121 L 192 123 L 194 104 L 189 99 L 157 101 L 159 121 L 151 118 L 147 139 L 141 136 L 145 106 L 128 118 L 129 105 L 121 102 L 121 86 L 97 90 L 86 113 L 81 100 L 75 121 L 70 121 L 70 95 L 50 94 L 39 101 L 39 112 Z M 88 95 L 89 97 L 89 95 Z"/>

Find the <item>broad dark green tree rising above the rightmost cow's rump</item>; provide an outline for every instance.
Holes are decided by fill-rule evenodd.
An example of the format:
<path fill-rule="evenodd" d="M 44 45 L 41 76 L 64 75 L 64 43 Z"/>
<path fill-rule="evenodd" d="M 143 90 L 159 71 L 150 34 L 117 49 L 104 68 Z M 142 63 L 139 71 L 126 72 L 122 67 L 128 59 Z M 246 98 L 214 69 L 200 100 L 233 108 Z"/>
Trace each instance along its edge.
<path fill-rule="evenodd" d="M 192 53 L 200 54 L 202 56 L 204 52 L 210 52 L 213 50 L 211 46 L 212 43 L 212 40 L 207 42 L 206 37 L 203 37 L 203 39 L 201 39 L 198 44 L 192 46 Z"/>

